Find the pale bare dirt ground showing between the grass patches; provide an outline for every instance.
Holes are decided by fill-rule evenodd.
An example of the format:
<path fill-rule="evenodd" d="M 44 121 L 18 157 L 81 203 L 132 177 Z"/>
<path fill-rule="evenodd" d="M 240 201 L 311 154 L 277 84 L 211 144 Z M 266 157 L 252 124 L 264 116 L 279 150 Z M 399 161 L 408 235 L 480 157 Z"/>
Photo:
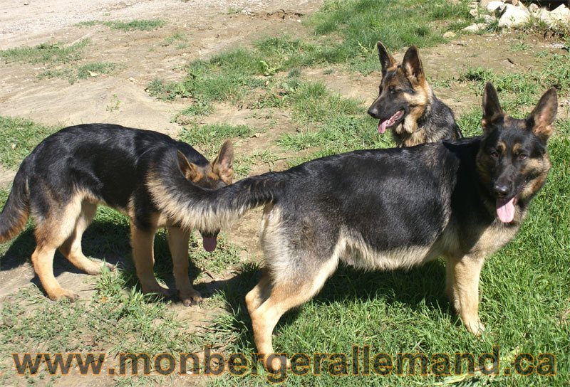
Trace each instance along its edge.
<path fill-rule="evenodd" d="M 300 19 L 320 5 L 318 0 L 3 0 L 0 9 L 1 50 L 39 43 L 72 43 L 90 38 L 92 44 L 86 49 L 82 62 L 115 62 L 122 67 L 111 75 L 80 80 L 72 85 L 68 80 L 58 78 L 38 80 L 37 75 L 43 70 L 41 65 L 0 63 L 0 113 L 30 118 L 42 124 L 67 126 L 112 122 L 175 135 L 180 131 L 180 125 L 171 122 L 172 116 L 184 105 L 150 97 L 145 88 L 151 80 L 157 77 L 166 80 L 182 78 L 182 66 L 190 60 L 248 45 L 264 35 L 302 34 L 304 27 Z M 130 21 L 135 18 L 160 18 L 167 24 L 155 31 L 130 32 L 100 25 L 74 26 L 81 21 Z M 165 46 L 165 39 L 175 33 L 187 36 L 184 48 Z M 534 65 L 532 55 L 509 50 L 509 46 L 519 41 L 517 34 L 462 36 L 445 46 L 422 50 L 420 54 L 427 75 L 438 80 L 457 75 L 470 64 L 499 71 L 530 69 Z M 527 37 L 525 43 L 538 50 L 549 48 L 549 43 L 539 38 Z M 403 52 L 394 55 L 400 59 Z M 471 63 L 475 60 L 476 63 Z M 304 75 L 309 79 L 323 80 L 341 95 L 363 100 L 364 105 L 375 98 L 380 80 L 379 72 L 363 76 L 341 69 L 330 72 L 325 68 L 310 68 L 304 70 Z M 480 97 L 460 85 L 435 90 L 456 115 L 480 105 Z M 217 105 L 216 112 L 201 122 L 249 124 L 263 129 L 259 136 L 237 142 L 237 154 L 242 149 L 244 152 L 246 149 L 247 152 L 271 149 L 282 157 L 275 165 L 255 166 L 252 174 L 286 166 L 284 158 L 289 154 L 276 147 L 274 140 L 283 132 L 296 129 L 287 112 L 252 111 L 224 104 Z M 13 176 L 14 171 L 0 167 L 0 186 L 7 186 Z M 244 259 L 259 257 L 259 212 L 253 211 L 244 216 L 229 235 L 232 243 L 246 248 Z M 75 270 L 68 272 L 66 263 L 56 262 L 56 265 L 61 265 L 61 270 L 56 270 L 61 272 L 58 276 L 61 284 L 65 287 L 73 283 L 70 286 L 73 290 L 82 297 L 88 297 L 93 291 L 93 277 Z M 11 270 L 0 270 L 0 299 L 30 285 L 33 278 L 29 263 Z M 180 319 L 189 325 L 201 324 L 209 316 L 209 311 L 202 307 L 173 307 L 179 312 Z M 56 384 L 71 386 L 84 383 L 84 380 L 60 378 Z M 187 383 L 187 379 L 174 382 Z M 96 378 L 94 383 L 110 385 L 113 379 Z"/>

